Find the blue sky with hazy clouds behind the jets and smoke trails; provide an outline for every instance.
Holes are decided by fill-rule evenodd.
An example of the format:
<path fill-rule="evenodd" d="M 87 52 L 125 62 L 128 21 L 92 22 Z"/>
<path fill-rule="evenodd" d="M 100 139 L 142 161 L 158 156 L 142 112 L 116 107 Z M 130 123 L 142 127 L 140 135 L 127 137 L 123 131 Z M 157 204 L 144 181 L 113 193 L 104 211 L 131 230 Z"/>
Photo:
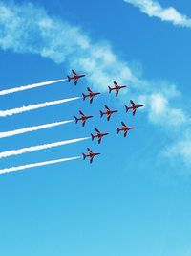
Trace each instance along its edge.
<path fill-rule="evenodd" d="M 1 117 L 3 132 L 70 120 L 79 109 L 94 115 L 85 128 L 1 139 L 0 151 L 86 137 L 96 127 L 111 133 L 101 145 L 86 140 L 0 159 L 4 169 L 87 147 L 101 152 L 93 165 L 79 159 L 0 176 L 1 255 L 191 253 L 191 4 L 126 2 L 0 1 L 1 90 L 66 78 L 72 67 L 87 74 L 76 87 L 62 81 L 0 96 L 1 110 L 77 97 L 88 85 L 102 92 L 93 105 L 79 99 Z M 107 92 L 113 80 L 128 85 L 118 99 Z M 125 114 L 130 99 L 145 105 L 135 117 Z M 104 104 L 119 109 L 111 122 L 99 118 Z M 120 121 L 136 127 L 125 139 Z"/>

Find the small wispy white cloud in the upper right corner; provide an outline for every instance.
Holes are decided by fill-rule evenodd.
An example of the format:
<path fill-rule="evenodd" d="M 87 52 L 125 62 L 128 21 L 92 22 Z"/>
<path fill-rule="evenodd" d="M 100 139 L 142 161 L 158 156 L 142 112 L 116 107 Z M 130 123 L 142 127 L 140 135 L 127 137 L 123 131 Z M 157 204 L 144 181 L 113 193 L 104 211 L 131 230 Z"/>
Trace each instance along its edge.
<path fill-rule="evenodd" d="M 174 25 L 191 28 L 191 19 L 181 14 L 174 7 L 163 8 L 158 1 L 154 0 L 123 0 L 139 8 L 140 12 L 150 17 L 157 17 L 162 21 L 171 22 Z"/>

